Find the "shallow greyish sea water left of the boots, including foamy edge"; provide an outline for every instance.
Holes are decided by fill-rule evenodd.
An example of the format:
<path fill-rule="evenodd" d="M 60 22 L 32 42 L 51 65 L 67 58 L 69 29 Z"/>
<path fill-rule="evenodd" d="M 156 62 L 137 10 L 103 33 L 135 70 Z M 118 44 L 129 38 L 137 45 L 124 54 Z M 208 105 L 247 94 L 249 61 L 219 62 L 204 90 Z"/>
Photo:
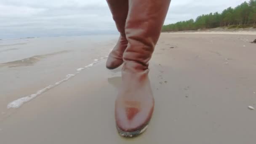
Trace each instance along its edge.
<path fill-rule="evenodd" d="M 0 40 L 0 113 L 107 59 L 118 35 Z"/>

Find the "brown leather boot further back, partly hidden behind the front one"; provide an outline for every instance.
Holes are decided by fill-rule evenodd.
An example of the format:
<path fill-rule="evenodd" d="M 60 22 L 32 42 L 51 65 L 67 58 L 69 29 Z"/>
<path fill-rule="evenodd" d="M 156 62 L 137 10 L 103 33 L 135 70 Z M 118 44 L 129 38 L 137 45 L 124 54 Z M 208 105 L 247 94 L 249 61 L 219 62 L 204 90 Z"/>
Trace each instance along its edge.
<path fill-rule="evenodd" d="M 115 69 L 123 64 L 123 52 L 127 48 L 128 41 L 125 37 L 125 21 L 128 14 L 128 0 L 107 0 L 118 32 L 120 32 L 117 44 L 110 52 L 106 67 Z"/>

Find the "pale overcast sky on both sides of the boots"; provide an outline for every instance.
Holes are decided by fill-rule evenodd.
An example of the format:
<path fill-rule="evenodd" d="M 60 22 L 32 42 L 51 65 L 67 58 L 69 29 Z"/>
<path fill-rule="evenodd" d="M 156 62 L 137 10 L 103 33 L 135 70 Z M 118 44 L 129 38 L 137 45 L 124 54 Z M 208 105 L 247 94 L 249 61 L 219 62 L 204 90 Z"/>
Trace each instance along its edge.
<path fill-rule="evenodd" d="M 172 0 L 165 24 L 244 1 Z M 111 32 L 116 28 L 105 0 L 0 0 L 0 39 Z"/>

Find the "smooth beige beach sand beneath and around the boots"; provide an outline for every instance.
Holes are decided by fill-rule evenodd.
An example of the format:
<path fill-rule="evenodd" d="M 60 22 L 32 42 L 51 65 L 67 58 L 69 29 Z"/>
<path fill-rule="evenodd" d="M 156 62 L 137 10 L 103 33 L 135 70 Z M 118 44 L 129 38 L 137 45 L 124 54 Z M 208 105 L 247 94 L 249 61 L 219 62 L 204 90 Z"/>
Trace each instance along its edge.
<path fill-rule="evenodd" d="M 155 112 L 135 139 L 117 134 L 120 69 L 109 71 L 103 61 L 10 109 L 0 144 L 254 144 L 255 38 L 162 34 L 150 64 Z"/>

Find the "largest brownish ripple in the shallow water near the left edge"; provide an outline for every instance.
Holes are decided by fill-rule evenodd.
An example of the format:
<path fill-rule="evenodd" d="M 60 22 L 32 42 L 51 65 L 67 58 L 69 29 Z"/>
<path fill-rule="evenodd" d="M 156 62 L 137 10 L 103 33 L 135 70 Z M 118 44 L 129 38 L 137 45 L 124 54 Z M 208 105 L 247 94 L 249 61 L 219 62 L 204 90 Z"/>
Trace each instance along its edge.
<path fill-rule="evenodd" d="M 49 56 L 54 56 L 54 55 L 57 55 L 57 54 L 68 53 L 68 52 L 70 52 L 70 51 L 58 51 L 58 52 L 55 52 L 55 53 L 48 53 L 48 54 L 43 54 L 43 55 L 32 56 L 32 57 L 21 59 L 21 60 L 9 61 L 9 62 L 0 64 L 0 67 L 30 66 L 30 65 L 33 65 L 36 62 L 40 61 L 41 59 L 45 59 Z"/>

